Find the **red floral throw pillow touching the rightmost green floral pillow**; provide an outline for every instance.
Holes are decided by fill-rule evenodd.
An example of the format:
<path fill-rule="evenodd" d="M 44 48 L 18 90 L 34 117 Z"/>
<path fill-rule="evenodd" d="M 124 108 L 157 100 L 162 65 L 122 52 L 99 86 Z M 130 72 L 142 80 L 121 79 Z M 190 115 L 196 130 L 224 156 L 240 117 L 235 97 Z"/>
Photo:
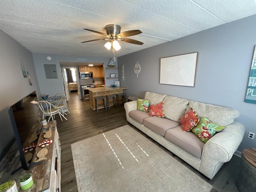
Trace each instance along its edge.
<path fill-rule="evenodd" d="M 196 112 L 190 108 L 188 112 L 180 118 L 180 123 L 182 125 L 182 131 L 190 131 L 193 127 L 195 127 L 199 122 L 199 117 L 197 116 Z"/>

